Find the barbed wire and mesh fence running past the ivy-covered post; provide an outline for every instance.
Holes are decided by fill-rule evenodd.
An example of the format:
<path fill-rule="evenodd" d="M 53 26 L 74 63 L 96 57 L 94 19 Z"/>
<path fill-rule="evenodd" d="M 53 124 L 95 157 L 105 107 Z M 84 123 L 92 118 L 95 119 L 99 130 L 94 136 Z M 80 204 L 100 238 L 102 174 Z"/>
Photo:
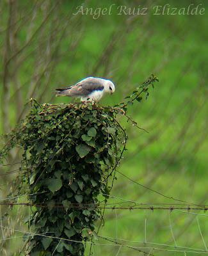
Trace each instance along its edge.
<path fill-rule="evenodd" d="M 20 164 L 20 163 L 15 163 Z M 11 166 L 12 164 L 5 164 L 4 166 Z M 12 170 L 10 172 L 1 173 L 0 175 L 10 175 L 16 172 L 20 172 L 23 169 L 17 169 Z M 179 198 L 175 198 L 173 196 L 164 195 L 164 193 L 161 193 L 160 191 L 156 191 L 152 188 L 148 188 L 147 186 L 144 186 L 143 184 L 137 182 L 136 180 L 131 179 L 127 175 L 124 175 L 124 173 L 120 171 L 116 171 L 119 175 L 122 175 L 124 179 L 128 180 L 128 182 L 131 182 L 132 184 L 136 184 L 136 186 L 146 189 L 150 191 L 151 193 L 156 194 L 157 196 L 161 198 L 166 198 L 171 202 L 138 202 L 135 200 L 129 200 L 126 198 L 122 198 L 120 196 L 114 196 L 114 195 L 108 195 L 109 201 L 113 200 L 113 202 L 108 202 L 106 204 L 70 204 L 69 207 L 71 208 L 77 208 L 77 209 L 102 209 L 104 211 L 111 211 L 115 212 L 115 225 L 116 225 L 116 237 L 109 237 L 109 236 L 101 236 L 99 234 L 100 227 L 97 231 L 97 240 L 91 239 L 90 241 L 84 242 L 86 246 L 92 247 L 99 247 L 100 248 L 117 248 L 116 255 L 120 255 L 122 251 L 124 250 L 132 250 L 133 252 L 137 253 L 143 253 L 143 255 L 160 255 L 161 253 L 183 253 L 184 255 L 187 255 L 187 253 L 190 253 L 191 255 L 198 255 L 198 254 L 208 254 L 207 245 L 206 245 L 206 239 L 204 237 L 204 232 L 202 231 L 202 228 L 200 226 L 200 221 L 198 220 L 199 217 L 205 216 L 208 217 L 208 214 L 206 214 L 206 211 L 208 210 L 208 205 L 202 205 L 197 204 L 195 202 L 187 202 L 184 200 L 180 200 Z M 44 192 L 42 192 L 44 193 Z M 8 207 L 29 207 L 29 211 L 31 207 L 49 207 L 49 204 L 31 204 L 30 198 L 32 196 L 38 195 L 38 193 L 33 194 L 26 194 L 26 195 L 18 195 L 18 196 L 10 196 L 7 198 L 0 198 L 0 209 L 4 205 Z M 106 194 L 102 194 L 102 196 L 106 196 Z M 26 202 L 14 202 L 14 200 L 17 200 L 19 198 L 26 198 Z M 21 199 L 22 200 L 22 199 Z M 54 208 L 64 208 L 63 204 L 61 202 L 55 202 L 53 205 L 50 205 L 50 207 Z M 135 241 L 131 239 L 124 239 L 122 237 L 118 237 L 118 212 L 117 211 L 150 211 L 150 212 L 157 212 L 157 211 L 168 211 L 168 229 L 169 233 L 172 236 L 173 244 L 168 243 L 154 243 L 147 240 L 147 216 L 145 216 L 145 228 L 144 228 L 144 234 L 145 239 L 144 241 Z M 30 212 L 28 211 L 28 215 Z M 172 221 L 172 212 L 179 212 L 181 214 L 192 214 L 193 218 L 196 218 L 196 223 L 198 227 L 198 234 L 200 234 L 201 239 L 201 248 L 195 248 L 195 246 L 179 246 L 177 243 L 177 236 L 175 236 L 175 225 L 173 225 Z M 203 213 L 202 213 L 203 212 Z M 127 215 L 130 216 L 130 215 Z M 101 216 L 101 222 L 102 223 L 102 216 Z M 0 239 L 0 243 L 5 243 L 6 241 L 10 241 L 11 239 L 22 239 L 25 236 L 44 236 L 44 237 L 50 237 L 52 239 L 57 240 L 57 247 L 60 244 L 61 241 L 70 241 L 70 242 L 76 242 L 76 243 L 83 243 L 81 241 L 74 241 L 72 239 L 65 239 L 64 237 L 56 237 L 51 236 L 51 232 L 48 235 L 45 234 L 34 234 L 31 232 L 31 228 L 29 227 L 29 232 L 27 230 L 19 230 L 17 228 L 12 227 L 6 227 L 3 225 L 3 213 L 0 211 L 0 232 L 2 234 L 2 238 Z M 17 234 L 22 234 L 22 236 L 17 236 Z M 9 235 L 8 235 L 9 234 Z M 15 234 L 15 236 L 13 236 Z M 57 248 L 56 247 L 56 248 Z M 102 249 L 100 249 L 102 250 Z M 159 254 L 158 254 L 159 253 Z M 90 249 L 91 254 L 91 249 Z M 96 255 L 96 252 L 94 252 L 94 255 Z M 174 255 L 174 254 L 173 254 Z"/>

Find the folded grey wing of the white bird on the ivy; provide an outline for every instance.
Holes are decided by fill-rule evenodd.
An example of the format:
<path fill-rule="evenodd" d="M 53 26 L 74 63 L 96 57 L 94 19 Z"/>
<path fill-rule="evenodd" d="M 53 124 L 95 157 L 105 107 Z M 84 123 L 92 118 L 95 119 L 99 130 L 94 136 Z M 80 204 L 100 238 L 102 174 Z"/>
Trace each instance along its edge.
<path fill-rule="evenodd" d="M 69 88 L 68 88 L 69 89 Z M 68 90 L 67 89 L 67 90 Z M 96 78 L 88 78 L 70 87 L 70 96 L 87 96 L 93 91 L 102 91 L 104 86 L 102 81 Z"/>

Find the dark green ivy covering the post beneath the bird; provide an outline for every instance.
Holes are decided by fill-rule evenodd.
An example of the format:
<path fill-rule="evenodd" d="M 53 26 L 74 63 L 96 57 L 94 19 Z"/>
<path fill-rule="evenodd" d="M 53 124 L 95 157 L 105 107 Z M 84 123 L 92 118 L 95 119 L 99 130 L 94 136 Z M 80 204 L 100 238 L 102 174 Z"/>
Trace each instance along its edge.
<path fill-rule="evenodd" d="M 140 102 L 142 93 L 147 99 L 154 81 L 151 76 L 115 107 L 32 101 L 29 115 L 8 134 L 0 152 L 3 160 L 11 148 L 23 149 L 24 185 L 17 193 L 31 195 L 31 234 L 47 234 L 28 235 L 26 255 L 84 255 L 84 242 L 96 236 L 95 223 L 102 216 L 99 195 L 107 202 L 125 150 L 127 135 L 116 117 L 126 115 L 129 102 Z"/>

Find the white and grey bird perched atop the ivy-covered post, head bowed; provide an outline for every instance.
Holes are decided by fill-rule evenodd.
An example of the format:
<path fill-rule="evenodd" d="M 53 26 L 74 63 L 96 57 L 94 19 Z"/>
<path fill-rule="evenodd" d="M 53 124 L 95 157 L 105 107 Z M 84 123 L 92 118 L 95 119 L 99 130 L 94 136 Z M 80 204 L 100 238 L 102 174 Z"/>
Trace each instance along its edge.
<path fill-rule="evenodd" d="M 104 93 L 115 92 L 115 85 L 108 79 L 87 77 L 67 88 L 56 89 L 56 96 L 81 98 L 82 102 L 97 102 Z"/>

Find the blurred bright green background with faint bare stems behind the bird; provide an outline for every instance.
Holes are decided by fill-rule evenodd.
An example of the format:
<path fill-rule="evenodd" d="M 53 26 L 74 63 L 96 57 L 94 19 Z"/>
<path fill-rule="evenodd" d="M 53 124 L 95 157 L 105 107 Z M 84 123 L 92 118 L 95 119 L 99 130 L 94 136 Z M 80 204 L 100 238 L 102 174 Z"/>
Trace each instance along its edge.
<path fill-rule="evenodd" d="M 204 15 L 167 13 L 173 12 L 171 8 L 185 8 L 187 12 L 190 4 L 189 10 L 205 8 Z M 118 15 L 120 6 L 126 6 L 122 15 Z M 156 6 L 164 8 L 164 15 L 154 15 Z M 106 15 L 99 13 L 104 8 Z M 119 171 L 190 206 L 191 202 L 208 204 L 207 8 L 207 1 L 195 0 L 2 0 L 1 133 L 9 132 L 24 118 L 29 110 L 25 103 L 31 97 L 42 103 L 71 101 L 55 98 L 54 88 L 88 76 L 107 77 L 116 84 L 116 92 L 100 104 L 112 106 L 155 74 L 159 77 L 156 88 L 150 90 L 147 101 L 135 104 L 129 113 L 148 133 L 124 124 L 128 150 Z M 144 11 L 146 14 L 141 15 Z M 18 159 L 17 152 L 11 152 L 9 161 Z M 15 168 L 1 166 L 0 173 Z M 12 191 L 16 177 L 17 173 L 0 176 L 0 200 Z M 133 201 L 147 206 L 188 207 L 138 186 L 119 173 L 116 177 L 109 204 L 121 202 L 120 206 L 128 207 Z M 7 209 L 1 206 L 1 215 Z M 13 229 L 26 231 L 27 216 L 25 207 L 13 207 L 1 221 L 1 226 L 7 228 L 0 228 L 0 255 L 19 255 L 22 233 Z M 152 255 L 204 255 L 199 250 L 207 250 L 208 214 L 204 211 L 106 209 L 104 219 L 100 236 L 113 237 L 118 243 Z M 5 238 L 8 240 L 3 241 Z M 95 244 L 99 245 L 92 246 L 93 255 L 143 254 L 104 239 Z M 88 250 L 89 246 L 86 255 Z"/>

